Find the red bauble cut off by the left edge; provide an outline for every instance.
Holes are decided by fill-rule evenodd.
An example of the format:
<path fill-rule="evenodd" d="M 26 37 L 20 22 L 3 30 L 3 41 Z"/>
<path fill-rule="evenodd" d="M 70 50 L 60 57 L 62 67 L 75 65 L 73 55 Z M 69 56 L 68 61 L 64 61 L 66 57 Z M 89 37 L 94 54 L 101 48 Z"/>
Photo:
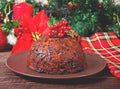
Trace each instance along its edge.
<path fill-rule="evenodd" d="M 4 51 L 7 45 L 6 34 L 0 29 L 0 51 Z"/>

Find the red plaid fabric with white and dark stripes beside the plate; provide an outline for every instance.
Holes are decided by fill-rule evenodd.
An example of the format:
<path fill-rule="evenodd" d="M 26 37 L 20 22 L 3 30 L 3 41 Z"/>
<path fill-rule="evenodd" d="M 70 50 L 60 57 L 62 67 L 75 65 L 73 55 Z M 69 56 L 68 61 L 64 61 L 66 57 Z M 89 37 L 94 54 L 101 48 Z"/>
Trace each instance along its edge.
<path fill-rule="evenodd" d="M 120 39 L 113 32 L 97 32 L 91 37 L 82 37 L 83 50 L 103 58 L 110 72 L 120 78 Z"/>

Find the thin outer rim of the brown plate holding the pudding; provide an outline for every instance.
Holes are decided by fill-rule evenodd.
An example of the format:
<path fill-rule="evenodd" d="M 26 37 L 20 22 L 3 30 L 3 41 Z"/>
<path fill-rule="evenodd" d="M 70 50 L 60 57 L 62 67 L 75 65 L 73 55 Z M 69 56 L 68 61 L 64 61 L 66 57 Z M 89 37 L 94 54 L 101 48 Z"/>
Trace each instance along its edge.
<path fill-rule="evenodd" d="M 15 69 L 11 68 L 10 65 L 8 65 L 8 60 L 11 57 L 14 57 L 15 55 L 19 55 L 21 53 L 27 53 L 27 52 L 28 52 L 28 50 L 23 51 L 23 52 L 19 52 L 19 53 L 16 53 L 16 54 L 13 54 L 13 55 L 9 56 L 8 59 L 5 61 L 5 65 L 8 67 L 8 69 L 10 69 L 11 71 L 13 71 L 13 72 L 15 72 L 17 74 L 28 76 L 28 77 L 34 77 L 34 78 L 44 78 L 44 79 L 73 79 L 73 78 L 83 78 L 83 77 L 88 77 L 88 76 L 95 75 L 95 74 L 101 72 L 106 67 L 106 62 L 102 58 L 100 58 L 99 55 L 93 54 L 93 53 L 89 53 L 89 52 L 84 52 L 84 53 L 86 53 L 86 55 L 89 54 L 89 55 L 94 55 L 94 56 L 99 57 L 99 59 L 103 62 L 103 66 L 102 66 L 101 69 L 95 71 L 94 73 L 89 73 L 89 74 L 80 75 L 80 76 L 78 75 L 78 74 L 80 74 L 80 72 L 78 72 L 78 73 L 71 73 L 71 74 L 45 74 L 45 73 L 38 73 L 39 74 L 39 76 L 38 76 L 38 75 L 35 75 L 35 74 L 29 74 L 29 73 L 23 73 L 23 72 L 17 71 Z M 29 68 L 27 68 L 27 69 L 29 69 Z M 29 70 L 31 70 L 34 73 L 37 73 L 36 71 L 34 71 L 32 69 L 29 69 Z M 74 76 L 75 74 L 77 76 Z M 58 77 L 53 77 L 53 75 L 58 76 Z M 71 77 L 69 77 L 69 76 L 68 77 L 64 77 L 66 75 L 69 75 L 69 76 L 71 75 Z"/>

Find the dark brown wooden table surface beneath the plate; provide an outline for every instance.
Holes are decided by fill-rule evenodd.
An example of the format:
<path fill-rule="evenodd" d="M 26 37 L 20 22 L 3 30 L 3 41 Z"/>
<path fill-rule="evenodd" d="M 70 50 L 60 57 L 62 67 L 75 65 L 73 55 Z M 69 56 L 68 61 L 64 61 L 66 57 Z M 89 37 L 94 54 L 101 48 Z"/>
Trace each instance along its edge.
<path fill-rule="evenodd" d="M 5 65 L 10 51 L 0 52 L 0 89 L 120 89 L 120 79 L 107 68 L 94 76 L 71 80 L 49 80 L 16 74 Z"/>

